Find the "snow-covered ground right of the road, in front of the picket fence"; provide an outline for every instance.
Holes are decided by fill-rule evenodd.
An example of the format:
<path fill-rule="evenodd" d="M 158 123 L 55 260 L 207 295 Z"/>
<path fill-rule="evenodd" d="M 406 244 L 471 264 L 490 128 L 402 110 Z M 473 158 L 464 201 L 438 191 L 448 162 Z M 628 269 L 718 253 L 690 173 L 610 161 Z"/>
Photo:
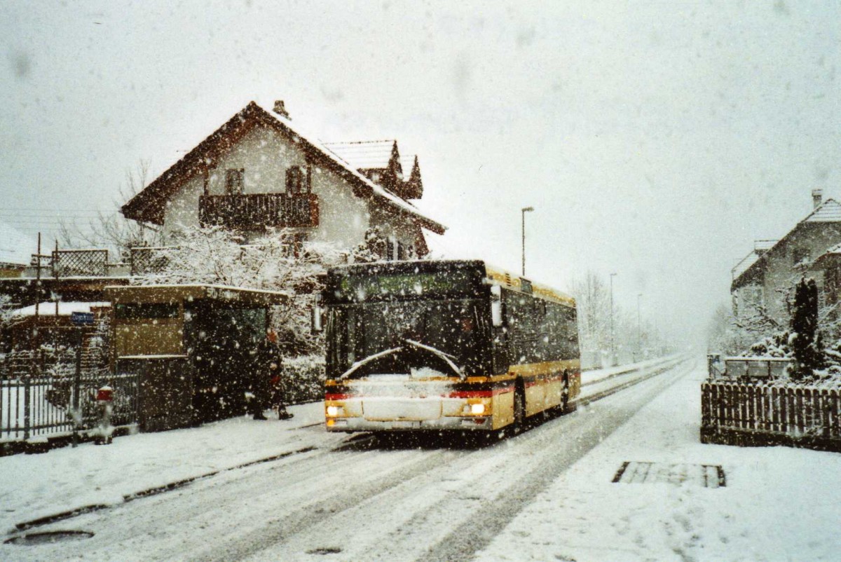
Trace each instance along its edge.
<path fill-rule="evenodd" d="M 705 376 L 698 368 L 659 395 L 475 559 L 841 559 L 841 454 L 701 444 Z M 727 484 L 612 483 L 625 461 L 719 464 Z"/>

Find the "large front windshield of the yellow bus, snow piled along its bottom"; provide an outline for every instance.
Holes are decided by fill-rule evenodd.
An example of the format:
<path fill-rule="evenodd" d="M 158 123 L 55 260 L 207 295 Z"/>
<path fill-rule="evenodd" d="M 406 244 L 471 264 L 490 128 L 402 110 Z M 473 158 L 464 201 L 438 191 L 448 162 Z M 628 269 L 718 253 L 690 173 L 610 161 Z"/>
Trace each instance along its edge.
<path fill-rule="evenodd" d="M 331 375 L 406 340 L 434 347 L 470 371 L 488 339 L 484 300 L 412 300 L 332 306 L 327 321 Z M 421 365 L 419 365 L 421 367 Z"/>

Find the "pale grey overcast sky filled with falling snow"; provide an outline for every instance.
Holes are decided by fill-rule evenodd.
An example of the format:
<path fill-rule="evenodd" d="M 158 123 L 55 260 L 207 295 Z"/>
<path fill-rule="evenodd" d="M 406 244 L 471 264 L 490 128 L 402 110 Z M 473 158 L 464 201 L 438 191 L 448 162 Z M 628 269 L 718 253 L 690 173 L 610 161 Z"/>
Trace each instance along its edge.
<path fill-rule="evenodd" d="M 452 6 L 452 4 L 458 4 Z M 396 138 L 452 257 L 587 269 L 685 337 L 730 268 L 841 196 L 835 2 L 0 4 L 0 220 L 113 211 L 250 100 Z M 31 210 L 38 209 L 38 210 Z M 37 215 L 37 216 L 30 216 Z M 33 248 L 34 251 L 34 248 Z"/>

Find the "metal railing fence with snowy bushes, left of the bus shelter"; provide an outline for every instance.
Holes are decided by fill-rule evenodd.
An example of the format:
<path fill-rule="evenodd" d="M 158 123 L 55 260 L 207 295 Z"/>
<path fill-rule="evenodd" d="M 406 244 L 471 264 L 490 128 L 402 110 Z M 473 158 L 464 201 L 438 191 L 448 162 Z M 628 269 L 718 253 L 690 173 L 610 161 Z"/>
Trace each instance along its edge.
<path fill-rule="evenodd" d="M 74 354 L 75 355 L 75 354 Z M 66 358 L 61 358 L 66 359 Z M 81 358 L 43 368 L 25 358 L 7 358 L 0 379 L 0 441 L 59 436 L 96 427 L 99 421 L 97 390 L 114 389 L 111 425 L 137 422 L 138 379 L 135 374 L 114 375 L 106 369 L 82 370 Z"/>

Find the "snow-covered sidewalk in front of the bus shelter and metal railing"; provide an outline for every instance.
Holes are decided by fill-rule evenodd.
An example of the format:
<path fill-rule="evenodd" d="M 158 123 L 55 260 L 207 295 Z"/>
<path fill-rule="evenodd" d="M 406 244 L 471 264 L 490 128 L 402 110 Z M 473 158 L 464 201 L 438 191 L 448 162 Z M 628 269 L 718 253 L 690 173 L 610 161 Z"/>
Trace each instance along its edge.
<path fill-rule="evenodd" d="M 0 532 L 19 522 L 87 505 L 115 504 L 178 480 L 304 447 L 341 440 L 327 433 L 322 403 L 291 406 L 291 420 L 262 422 L 248 416 L 170 432 L 82 443 L 43 454 L 0 458 Z M 271 416 L 271 414 L 270 414 Z M 315 427 L 305 428 L 311 426 Z M 300 429 L 300 431 L 290 431 Z"/>

